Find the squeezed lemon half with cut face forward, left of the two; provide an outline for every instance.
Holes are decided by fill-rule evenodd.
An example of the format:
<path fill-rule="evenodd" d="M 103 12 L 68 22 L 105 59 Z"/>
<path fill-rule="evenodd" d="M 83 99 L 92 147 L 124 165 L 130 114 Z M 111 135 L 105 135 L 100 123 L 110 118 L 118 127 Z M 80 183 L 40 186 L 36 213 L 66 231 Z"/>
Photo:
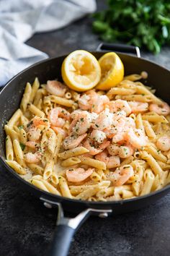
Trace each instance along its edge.
<path fill-rule="evenodd" d="M 69 88 L 83 92 L 96 86 L 101 78 L 97 59 L 88 51 L 73 51 L 64 59 L 61 74 Z"/>

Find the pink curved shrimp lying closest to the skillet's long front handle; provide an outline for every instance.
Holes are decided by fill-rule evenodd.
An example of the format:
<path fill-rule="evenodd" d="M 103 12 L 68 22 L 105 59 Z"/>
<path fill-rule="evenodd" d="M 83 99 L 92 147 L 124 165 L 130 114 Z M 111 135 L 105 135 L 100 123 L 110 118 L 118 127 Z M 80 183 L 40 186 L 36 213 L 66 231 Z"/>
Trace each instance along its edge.
<path fill-rule="evenodd" d="M 84 168 L 69 168 L 66 170 L 68 182 L 83 182 L 93 173 L 94 168 L 84 170 Z"/>

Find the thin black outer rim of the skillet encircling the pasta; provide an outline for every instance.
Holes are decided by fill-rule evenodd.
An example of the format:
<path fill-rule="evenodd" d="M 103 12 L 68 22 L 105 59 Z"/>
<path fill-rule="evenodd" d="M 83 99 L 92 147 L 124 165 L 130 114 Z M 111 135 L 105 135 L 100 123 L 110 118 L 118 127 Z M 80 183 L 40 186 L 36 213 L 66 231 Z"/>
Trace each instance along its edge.
<path fill-rule="evenodd" d="M 109 51 L 89 51 L 91 54 L 106 54 L 107 52 Z M 166 69 L 166 67 L 163 67 L 159 64 L 156 64 L 154 61 L 149 61 L 148 59 L 145 59 L 145 58 L 138 58 L 137 56 L 133 56 L 131 54 L 124 54 L 124 53 L 120 53 L 120 52 L 117 52 L 118 55 L 122 55 L 122 56 L 130 56 L 132 57 L 133 59 L 136 59 L 136 60 L 142 60 L 142 61 L 146 61 L 148 62 L 149 64 L 153 64 L 155 65 L 156 67 L 158 67 L 159 69 L 164 69 L 166 72 L 169 72 L 170 73 L 170 70 L 169 69 Z M 6 89 L 6 87 L 10 86 L 10 84 L 13 82 L 13 80 L 15 80 L 15 78 L 17 78 L 20 74 L 23 74 L 24 72 L 27 72 L 29 69 L 32 69 L 34 67 L 36 67 L 37 65 L 40 65 L 42 63 L 45 63 L 48 61 L 53 61 L 55 59 L 58 59 L 58 58 L 61 58 L 61 57 L 66 57 L 68 56 L 68 54 L 64 54 L 64 55 L 60 55 L 60 56 L 57 56 L 57 57 L 52 57 L 52 58 L 47 58 L 47 59 L 43 59 L 41 61 L 37 61 L 35 64 L 32 64 L 30 67 L 27 67 L 26 69 L 22 70 L 21 72 L 19 72 L 18 74 L 16 74 L 14 77 L 12 77 L 7 83 L 6 85 L 4 85 L 4 88 L 1 90 L 0 92 L 0 97 L 1 97 L 1 94 L 4 93 L 4 90 Z M 109 205 L 123 205 L 124 203 L 128 203 L 128 202 L 135 202 L 135 201 L 138 201 L 138 200 L 143 200 L 145 198 L 149 198 L 149 197 L 153 197 L 154 195 L 158 195 L 158 194 L 161 194 L 162 192 L 170 189 L 170 184 L 167 185 L 166 187 L 163 187 L 162 189 L 158 189 L 154 192 L 151 192 L 147 195 L 143 195 L 143 196 L 139 196 L 139 197 L 133 197 L 131 199 L 125 199 L 125 200 L 116 200 L 116 201 L 106 201 L 106 202 L 102 202 L 102 201 L 88 201 L 88 200 L 76 200 L 76 199 L 71 199 L 71 198 L 68 198 L 68 197 L 63 197 L 63 196 L 58 196 L 58 195 L 54 195 L 50 192 L 45 192 L 37 187 L 35 187 L 33 184 L 27 182 L 25 179 L 23 179 L 21 176 L 19 176 L 19 174 L 17 174 L 13 168 L 11 168 L 5 161 L 4 159 L 2 158 L 2 156 L 0 155 L 0 161 L 1 163 L 5 166 L 5 168 L 7 168 L 9 170 L 9 172 L 14 175 L 18 180 L 19 182 L 22 182 L 22 184 L 24 183 L 25 185 L 27 185 L 27 187 L 30 187 L 30 189 L 35 189 L 35 191 L 37 190 L 37 192 L 40 192 L 42 193 L 43 195 L 47 195 L 47 197 L 53 197 L 53 200 L 54 202 L 62 202 L 63 200 L 65 202 L 79 202 L 81 204 L 84 204 L 84 205 L 93 205 L 93 207 L 95 205 L 99 206 L 109 206 Z M 38 196 L 38 198 L 40 199 L 40 197 Z"/>

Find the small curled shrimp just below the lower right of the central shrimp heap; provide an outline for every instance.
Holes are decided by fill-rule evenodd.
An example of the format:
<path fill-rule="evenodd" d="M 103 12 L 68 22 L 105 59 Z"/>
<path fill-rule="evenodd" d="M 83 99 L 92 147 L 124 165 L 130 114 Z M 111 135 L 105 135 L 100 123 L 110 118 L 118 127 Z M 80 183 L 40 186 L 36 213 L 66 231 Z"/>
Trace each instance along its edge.
<path fill-rule="evenodd" d="M 119 155 L 120 158 L 128 158 L 133 155 L 134 148 L 131 145 L 109 144 L 107 150 L 110 155 Z"/>

